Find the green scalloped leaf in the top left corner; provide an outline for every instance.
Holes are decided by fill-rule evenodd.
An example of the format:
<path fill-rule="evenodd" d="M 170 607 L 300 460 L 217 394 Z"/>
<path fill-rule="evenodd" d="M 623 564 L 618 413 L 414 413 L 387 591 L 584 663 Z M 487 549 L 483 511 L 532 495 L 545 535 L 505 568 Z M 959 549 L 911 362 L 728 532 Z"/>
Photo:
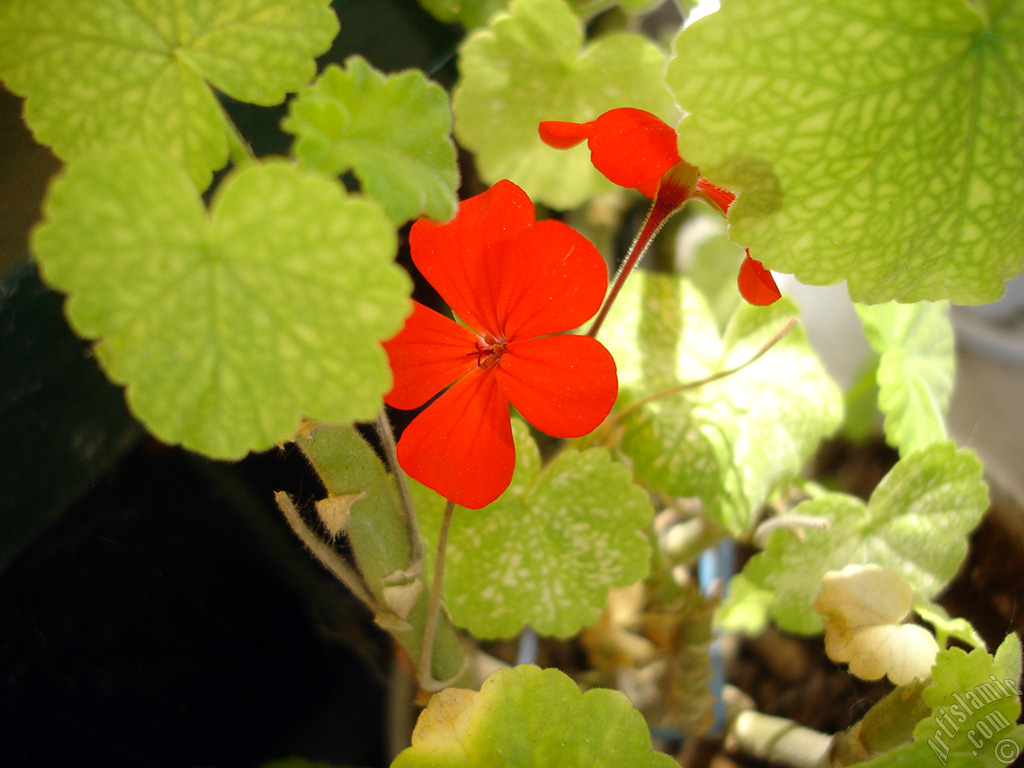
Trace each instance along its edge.
<path fill-rule="evenodd" d="M 309 82 L 338 33 L 328 0 L 6 0 L 0 79 L 63 160 L 129 139 L 169 152 L 201 188 L 227 160 L 210 86 L 269 105 Z"/>

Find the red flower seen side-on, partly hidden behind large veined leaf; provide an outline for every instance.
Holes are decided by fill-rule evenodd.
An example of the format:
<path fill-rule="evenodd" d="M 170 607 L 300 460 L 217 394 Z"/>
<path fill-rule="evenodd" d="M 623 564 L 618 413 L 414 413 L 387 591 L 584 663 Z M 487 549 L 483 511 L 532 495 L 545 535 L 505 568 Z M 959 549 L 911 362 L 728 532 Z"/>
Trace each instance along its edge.
<path fill-rule="evenodd" d="M 591 162 L 609 181 L 638 189 L 655 202 L 663 181 L 671 180 L 669 171 L 684 162 L 679 157 L 675 129 L 643 110 L 611 110 L 589 123 L 548 120 L 541 123 L 540 134 L 556 150 L 567 150 L 586 139 Z M 664 218 L 690 197 L 703 200 L 724 215 L 736 196 L 700 177 L 695 187 L 682 190 L 683 199 L 663 213 Z M 781 296 L 771 272 L 751 256 L 750 250 L 737 284 L 740 295 L 751 304 L 765 306 Z"/>

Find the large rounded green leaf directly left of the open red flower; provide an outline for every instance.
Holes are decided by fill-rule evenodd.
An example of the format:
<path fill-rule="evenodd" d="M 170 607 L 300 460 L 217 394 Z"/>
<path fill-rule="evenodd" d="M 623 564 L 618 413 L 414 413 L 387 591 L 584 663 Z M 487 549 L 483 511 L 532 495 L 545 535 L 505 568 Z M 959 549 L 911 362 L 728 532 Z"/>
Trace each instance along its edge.
<path fill-rule="evenodd" d="M 375 203 L 279 161 L 234 171 L 207 215 L 180 167 L 122 146 L 71 163 L 45 210 L 44 278 L 161 439 L 231 459 L 302 416 L 380 410 L 379 341 L 401 327 L 410 285 Z"/>

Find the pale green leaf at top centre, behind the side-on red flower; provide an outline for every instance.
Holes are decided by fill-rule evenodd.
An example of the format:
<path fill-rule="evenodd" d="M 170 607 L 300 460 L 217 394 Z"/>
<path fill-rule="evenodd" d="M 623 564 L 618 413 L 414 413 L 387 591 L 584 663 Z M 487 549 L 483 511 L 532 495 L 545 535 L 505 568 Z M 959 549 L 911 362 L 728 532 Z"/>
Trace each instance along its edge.
<path fill-rule="evenodd" d="M 675 119 L 655 45 L 631 33 L 583 43 L 583 26 L 563 0 L 513 0 L 463 43 L 456 137 L 476 154 L 484 181 L 508 178 L 535 202 L 573 208 L 615 187 L 591 165 L 586 145 L 559 151 L 541 141 L 541 121 L 586 122 L 615 106 Z"/>

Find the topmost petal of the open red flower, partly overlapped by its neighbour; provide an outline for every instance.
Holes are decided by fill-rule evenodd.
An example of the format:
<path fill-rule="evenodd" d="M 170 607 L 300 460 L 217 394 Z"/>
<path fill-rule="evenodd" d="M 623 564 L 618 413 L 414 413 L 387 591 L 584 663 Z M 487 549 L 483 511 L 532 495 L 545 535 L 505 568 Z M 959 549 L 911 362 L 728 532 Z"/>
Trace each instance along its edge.
<path fill-rule="evenodd" d="M 499 336 L 496 313 L 501 255 L 534 223 L 534 204 L 511 181 L 464 200 L 446 224 L 420 219 L 410 231 L 413 263 L 459 317 Z"/>

